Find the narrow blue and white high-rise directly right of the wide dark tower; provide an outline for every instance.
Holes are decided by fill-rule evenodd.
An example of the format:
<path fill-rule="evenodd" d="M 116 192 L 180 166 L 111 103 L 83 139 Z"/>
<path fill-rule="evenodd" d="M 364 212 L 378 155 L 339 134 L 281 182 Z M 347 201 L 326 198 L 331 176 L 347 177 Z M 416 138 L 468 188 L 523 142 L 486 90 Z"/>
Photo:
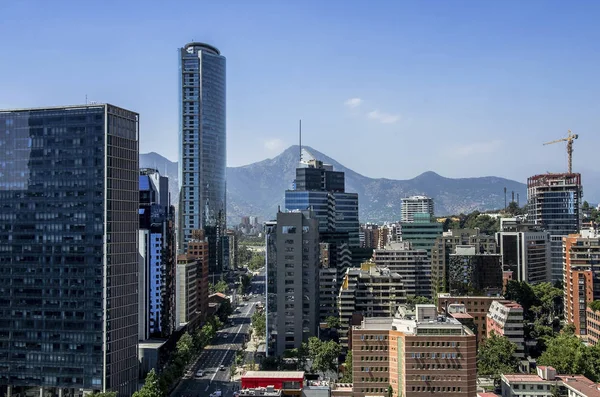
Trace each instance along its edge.
<path fill-rule="evenodd" d="M 175 207 L 169 179 L 140 170 L 138 337 L 167 337 L 175 329 Z"/>

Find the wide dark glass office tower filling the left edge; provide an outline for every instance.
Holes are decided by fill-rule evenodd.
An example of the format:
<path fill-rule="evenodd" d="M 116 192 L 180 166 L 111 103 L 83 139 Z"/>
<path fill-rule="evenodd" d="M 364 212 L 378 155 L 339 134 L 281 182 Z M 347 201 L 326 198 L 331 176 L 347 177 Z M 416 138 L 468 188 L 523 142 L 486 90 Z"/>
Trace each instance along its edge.
<path fill-rule="evenodd" d="M 138 173 L 136 113 L 0 111 L 0 395 L 136 390 Z"/>

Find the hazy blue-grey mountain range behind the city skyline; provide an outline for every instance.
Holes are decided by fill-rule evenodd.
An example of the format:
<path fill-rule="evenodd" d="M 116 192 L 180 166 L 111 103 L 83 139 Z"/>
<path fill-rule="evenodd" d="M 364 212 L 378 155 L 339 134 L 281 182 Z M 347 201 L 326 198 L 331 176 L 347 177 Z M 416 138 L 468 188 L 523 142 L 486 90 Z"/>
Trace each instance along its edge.
<path fill-rule="evenodd" d="M 272 159 L 227 167 L 228 224 L 239 223 L 244 215 L 258 216 L 261 221 L 273 219 L 278 206 L 283 208 L 285 190 L 291 189 L 298 157 L 299 147 L 294 145 Z M 509 201 L 513 191 L 515 197 L 519 194 L 521 204 L 527 198 L 525 184 L 495 176 L 446 178 L 427 171 L 407 180 L 369 178 L 311 147 L 303 147 L 303 157 L 313 157 L 345 172 L 346 191 L 358 193 L 361 222 L 399 220 L 400 199 L 411 195 L 433 197 L 438 216 L 502 208 L 505 187 Z M 156 168 L 169 177 L 171 200 L 176 204 L 177 163 L 152 152 L 140 154 L 140 167 Z"/>

